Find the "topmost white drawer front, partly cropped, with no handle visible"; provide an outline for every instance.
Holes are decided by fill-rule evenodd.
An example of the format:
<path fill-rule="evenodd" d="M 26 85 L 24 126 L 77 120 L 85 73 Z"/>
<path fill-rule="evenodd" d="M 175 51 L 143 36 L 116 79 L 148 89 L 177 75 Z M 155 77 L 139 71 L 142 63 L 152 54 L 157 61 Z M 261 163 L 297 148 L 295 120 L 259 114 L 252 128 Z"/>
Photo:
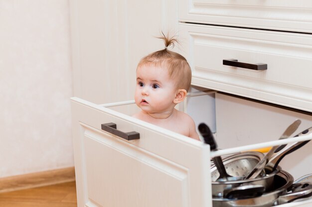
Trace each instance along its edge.
<path fill-rule="evenodd" d="M 311 0 L 180 0 L 179 20 L 312 32 Z"/>

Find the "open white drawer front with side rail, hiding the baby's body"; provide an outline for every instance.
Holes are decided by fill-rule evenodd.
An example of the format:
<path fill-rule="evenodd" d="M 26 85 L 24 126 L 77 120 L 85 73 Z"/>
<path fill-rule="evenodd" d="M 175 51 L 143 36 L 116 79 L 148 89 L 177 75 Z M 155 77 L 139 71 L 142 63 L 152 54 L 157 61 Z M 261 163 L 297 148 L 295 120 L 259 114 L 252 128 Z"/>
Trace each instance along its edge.
<path fill-rule="evenodd" d="M 210 152 L 207 144 L 132 118 L 134 104 L 125 103 L 97 105 L 72 98 L 78 207 L 212 207 L 211 157 L 312 138 Z M 108 123 L 115 123 L 118 132 L 102 130 Z M 129 132 L 140 138 L 112 134 L 134 134 Z M 280 207 L 311 205 L 312 200 Z"/>

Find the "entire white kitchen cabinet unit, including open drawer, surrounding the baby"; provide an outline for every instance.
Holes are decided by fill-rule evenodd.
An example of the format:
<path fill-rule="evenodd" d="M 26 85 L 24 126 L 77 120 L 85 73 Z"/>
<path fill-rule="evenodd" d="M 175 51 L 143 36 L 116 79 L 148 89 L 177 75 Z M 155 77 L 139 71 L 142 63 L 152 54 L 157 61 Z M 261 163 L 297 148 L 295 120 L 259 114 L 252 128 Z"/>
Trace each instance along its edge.
<path fill-rule="evenodd" d="M 151 25 L 179 25 L 179 53 L 191 65 L 192 84 L 227 93 L 216 94 L 216 138 L 224 147 L 216 152 L 210 152 L 199 141 L 132 118 L 136 110 L 131 106 L 133 101 L 110 107 L 119 103 L 98 105 L 72 98 L 79 207 L 212 207 L 211 157 L 298 141 L 276 139 L 288 120 L 301 118 L 305 126 L 312 122 L 312 4 L 308 0 L 179 0 L 177 10 L 176 1 L 93 1 L 92 6 L 83 0 L 71 2 L 72 19 L 77 23 L 73 31 L 81 35 L 73 36 L 74 88 L 78 96 L 96 103 L 131 97 L 128 87 L 135 73 L 128 67 L 136 66 L 142 57 L 137 53 L 141 49 L 148 53 L 155 51 L 155 45 L 162 45 L 139 44 L 142 48 L 138 48 L 141 37 L 151 35 Z M 150 24 L 145 16 L 140 16 L 136 5 L 144 5 L 146 16 L 153 17 L 149 21 L 156 19 L 158 23 Z M 100 19 L 98 27 L 90 24 L 90 15 L 92 21 Z M 110 37 L 116 35 L 120 37 L 112 42 Z M 113 52 L 108 52 L 108 48 Z M 90 55 L 93 53 L 98 56 Z M 105 54 L 105 61 L 101 54 Z M 120 57 L 125 61 L 120 61 Z M 266 63 L 268 69 L 224 66 L 224 59 Z M 102 77 L 106 78 L 103 82 Z M 121 84 L 114 82 L 117 79 Z M 119 87 L 111 90 L 114 85 Z M 258 101 L 263 102 L 258 105 Z M 196 105 L 190 107 L 197 109 Z M 299 111 L 293 114 L 291 109 Z M 237 119 L 235 116 L 240 113 L 243 116 Z M 258 126 L 253 128 L 253 121 L 264 114 L 267 118 L 257 120 L 258 124 L 266 119 L 278 124 L 265 128 L 266 133 L 261 136 Z M 115 123 L 122 132 L 136 131 L 140 139 L 125 140 L 105 132 L 101 124 L 106 123 Z M 311 138 L 310 135 L 300 140 Z M 293 169 L 292 163 L 285 169 L 296 171 L 297 177 L 312 171 L 309 147 L 301 154 L 307 156 L 295 156 L 298 169 Z M 304 201 L 280 207 L 311 205 L 312 201 Z"/>

